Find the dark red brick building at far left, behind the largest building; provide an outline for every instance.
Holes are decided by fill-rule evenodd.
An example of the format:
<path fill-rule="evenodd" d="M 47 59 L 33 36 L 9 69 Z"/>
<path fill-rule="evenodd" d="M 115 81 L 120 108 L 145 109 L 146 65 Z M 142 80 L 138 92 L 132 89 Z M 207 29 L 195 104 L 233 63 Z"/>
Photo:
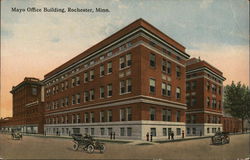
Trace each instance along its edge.
<path fill-rule="evenodd" d="M 13 117 L 2 120 L 1 130 L 20 130 L 26 133 L 43 133 L 44 130 L 44 91 L 39 79 L 26 77 L 13 86 Z"/>

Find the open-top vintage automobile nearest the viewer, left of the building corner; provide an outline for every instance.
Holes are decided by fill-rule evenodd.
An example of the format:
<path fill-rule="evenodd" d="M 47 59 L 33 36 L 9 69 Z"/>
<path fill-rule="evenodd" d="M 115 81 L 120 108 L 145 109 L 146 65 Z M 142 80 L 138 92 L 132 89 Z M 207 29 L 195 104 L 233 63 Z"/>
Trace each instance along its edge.
<path fill-rule="evenodd" d="M 94 150 L 99 150 L 101 153 L 105 151 L 105 146 L 97 140 L 94 140 L 92 136 L 81 134 L 72 134 L 73 138 L 73 150 L 82 149 L 88 153 L 93 153 Z"/>

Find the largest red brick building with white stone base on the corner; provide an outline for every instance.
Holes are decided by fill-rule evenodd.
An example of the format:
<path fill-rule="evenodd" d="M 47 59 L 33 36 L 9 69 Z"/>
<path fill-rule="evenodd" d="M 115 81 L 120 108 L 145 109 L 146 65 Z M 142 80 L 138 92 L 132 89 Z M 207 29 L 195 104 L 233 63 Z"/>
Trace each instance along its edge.
<path fill-rule="evenodd" d="M 46 134 L 181 137 L 188 58 L 184 46 L 136 20 L 45 75 Z"/>

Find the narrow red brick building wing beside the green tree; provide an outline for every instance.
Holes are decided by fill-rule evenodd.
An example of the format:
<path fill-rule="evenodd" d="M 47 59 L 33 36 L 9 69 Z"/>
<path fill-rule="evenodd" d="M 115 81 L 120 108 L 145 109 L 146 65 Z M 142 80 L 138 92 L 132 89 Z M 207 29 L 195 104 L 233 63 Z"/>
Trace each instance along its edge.
<path fill-rule="evenodd" d="M 213 135 L 222 131 L 223 81 L 221 71 L 192 58 L 186 66 L 186 134 Z"/>

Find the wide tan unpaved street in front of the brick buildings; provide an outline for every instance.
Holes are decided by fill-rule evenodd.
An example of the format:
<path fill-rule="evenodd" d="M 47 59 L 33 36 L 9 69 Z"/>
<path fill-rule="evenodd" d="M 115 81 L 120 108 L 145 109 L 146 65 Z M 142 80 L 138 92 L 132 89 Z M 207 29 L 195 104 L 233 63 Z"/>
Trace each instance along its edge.
<path fill-rule="evenodd" d="M 12 140 L 0 134 L 0 158 L 3 159 L 185 159 L 244 160 L 250 154 L 250 134 L 230 136 L 230 144 L 211 145 L 210 138 L 151 145 L 105 143 L 103 154 L 73 151 L 71 139 L 24 136 Z"/>

